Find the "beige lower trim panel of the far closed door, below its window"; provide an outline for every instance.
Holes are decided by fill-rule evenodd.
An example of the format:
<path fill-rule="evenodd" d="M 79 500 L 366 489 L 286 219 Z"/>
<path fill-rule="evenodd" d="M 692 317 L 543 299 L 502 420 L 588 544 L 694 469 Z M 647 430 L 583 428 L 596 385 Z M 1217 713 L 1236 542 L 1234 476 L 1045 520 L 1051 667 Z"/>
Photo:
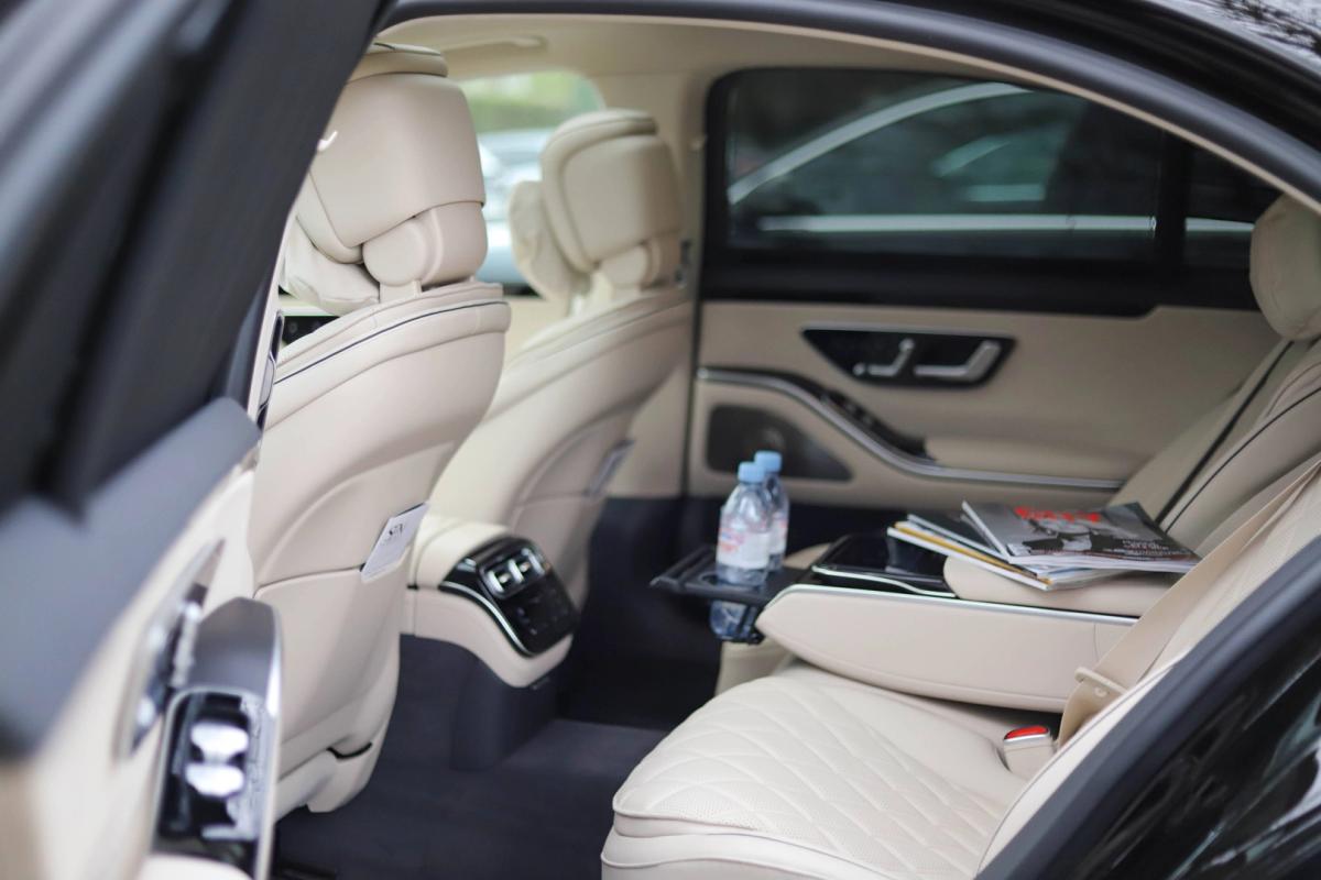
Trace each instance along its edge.
<path fill-rule="evenodd" d="M 904 387 L 849 375 L 804 336 L 811 327 L 1004 336 L 1013 347 L 975 387 Z M 787 421 L 843 466 L 832 479 L 790 476 L 795 500 L 855 507 L 956 505 L 963 499 L 1099 503 L 1267 354 L 1275 334 L 1252 313 L 1157 307 L 1128 317 L 911 309 L 840 303 L 707 302 L 694 393 L 690 486 L 728 489 L 728 460 L 708 437 L 720 408 Z M 914 472 L 785 383 L 839 392 L 948 475 Z M 777 445 L 774 430 L 738 438 L 742 454 Z M 995 471 L 1021 480 L 978 479 Z M 1030 479 L 1036 476 L 1053 480 Z M 1052 486 L 1052 483 L 1055 483 Z"/>

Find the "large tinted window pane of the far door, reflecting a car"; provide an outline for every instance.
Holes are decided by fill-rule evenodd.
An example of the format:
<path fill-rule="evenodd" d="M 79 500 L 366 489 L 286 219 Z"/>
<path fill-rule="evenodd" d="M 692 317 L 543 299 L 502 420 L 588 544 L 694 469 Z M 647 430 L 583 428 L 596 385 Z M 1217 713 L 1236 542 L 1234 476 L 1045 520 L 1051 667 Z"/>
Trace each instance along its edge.
<path fill-rule="evenodd" d="M 746 71 L 728 103 L 737 247 L 1149 259 L 1161 135 L 1048 91 Z"/>

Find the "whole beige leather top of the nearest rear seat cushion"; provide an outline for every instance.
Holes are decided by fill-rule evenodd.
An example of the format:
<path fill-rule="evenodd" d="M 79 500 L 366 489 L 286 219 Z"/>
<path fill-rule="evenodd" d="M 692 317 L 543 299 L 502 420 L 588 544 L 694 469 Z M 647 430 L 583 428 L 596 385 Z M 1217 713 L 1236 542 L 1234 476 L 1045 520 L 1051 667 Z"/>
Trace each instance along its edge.
<path fill-rule="evenodd" d="M 612 836 L 756 835 L 893 880 L 971 877 L 1022 786 L 988 736 L 914 701 L 774 676 L 666 738 L 616 796 Z"/>

